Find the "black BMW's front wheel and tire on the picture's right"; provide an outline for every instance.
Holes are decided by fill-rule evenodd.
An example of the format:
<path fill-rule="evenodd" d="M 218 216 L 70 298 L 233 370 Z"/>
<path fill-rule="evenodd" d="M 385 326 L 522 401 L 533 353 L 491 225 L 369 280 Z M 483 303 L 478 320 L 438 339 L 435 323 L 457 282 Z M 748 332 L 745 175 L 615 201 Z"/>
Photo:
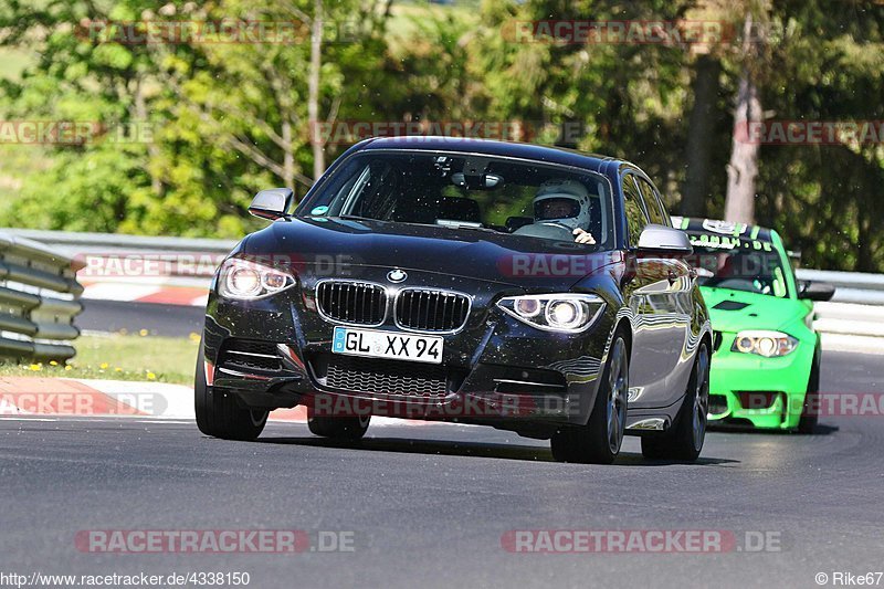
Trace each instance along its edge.
<path fill-rule="evenodd" d="M 622 334 L 614 335 L 596 402 L 586 425 L 562 429 L 550 440 L 560 462 L 611 464 L 620 453 L 627 428 L 629 351 Z"/>

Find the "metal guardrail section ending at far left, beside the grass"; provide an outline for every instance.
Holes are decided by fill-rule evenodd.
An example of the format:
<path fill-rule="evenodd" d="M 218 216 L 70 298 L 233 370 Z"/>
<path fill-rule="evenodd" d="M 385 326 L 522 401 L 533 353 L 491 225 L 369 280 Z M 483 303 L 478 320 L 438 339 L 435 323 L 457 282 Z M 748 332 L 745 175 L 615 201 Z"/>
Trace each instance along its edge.
<path fill-rule="evenodd" d="M 80 336 L 80 262 L 0 231 L 0 358 L 66 360 Z"/>

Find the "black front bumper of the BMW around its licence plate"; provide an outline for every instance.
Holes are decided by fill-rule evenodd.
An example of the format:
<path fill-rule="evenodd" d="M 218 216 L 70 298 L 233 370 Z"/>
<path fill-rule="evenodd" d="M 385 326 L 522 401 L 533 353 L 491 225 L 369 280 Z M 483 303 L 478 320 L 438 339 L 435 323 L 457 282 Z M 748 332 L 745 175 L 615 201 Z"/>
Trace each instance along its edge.
<path fill-rule="evenodd" d="M 611 314 L 603 313 L 583 334 L 541 332 L 494 306 L 497 297 L 518 292 L 501 293 L 492 283 L 472 286 L 465 327 L 442 336 L 441 365 L 333 355 L 336 323 L 319 315 L 309 284 L 251 302 L 212 294 L 203 337 L 208 381 L 256 408 L 313 404 L 335 414 L 483 423 L 526 434 L 534 423 L 540 435 L 548 433 L 545 425 L 585 423 L 613 328 Z M 392 320 L 371 329 L 403 334 Z M 230 354 L 232 346 L 246 347 L 236 355 Z M 244 356 L 249 349 L 260 354 Z M 432 393 L 421 390 L 423 381 L 432 381 Z"/>

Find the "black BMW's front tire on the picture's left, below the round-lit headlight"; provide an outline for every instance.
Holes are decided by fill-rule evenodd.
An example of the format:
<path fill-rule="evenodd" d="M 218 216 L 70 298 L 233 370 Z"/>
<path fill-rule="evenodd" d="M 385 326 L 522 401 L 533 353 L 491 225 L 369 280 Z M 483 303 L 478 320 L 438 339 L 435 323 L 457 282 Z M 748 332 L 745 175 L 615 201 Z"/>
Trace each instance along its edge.
<path fill-rule="evenodd" d="M 261 435 L 267 423 L 267 411 L 243 409 L 233 393 L 218 392 L 206 383 L 203 349 L 197 358 L 197 376 L 193 385 L 193 401 L 197 427 L 206 435 L 224 440 L 251 441 Z"/>

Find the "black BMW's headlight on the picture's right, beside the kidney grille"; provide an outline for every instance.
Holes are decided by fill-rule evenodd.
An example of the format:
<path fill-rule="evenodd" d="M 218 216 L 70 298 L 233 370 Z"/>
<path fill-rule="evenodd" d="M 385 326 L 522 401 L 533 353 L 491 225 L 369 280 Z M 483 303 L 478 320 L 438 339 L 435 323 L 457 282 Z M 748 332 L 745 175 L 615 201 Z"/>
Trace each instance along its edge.
<path fill-rule="evenodd" d="M 508 296 L 497 302 L 504 312 L 538 329 L 576 334 L 589 328 L 604 308 L 591 294 Z"/>

